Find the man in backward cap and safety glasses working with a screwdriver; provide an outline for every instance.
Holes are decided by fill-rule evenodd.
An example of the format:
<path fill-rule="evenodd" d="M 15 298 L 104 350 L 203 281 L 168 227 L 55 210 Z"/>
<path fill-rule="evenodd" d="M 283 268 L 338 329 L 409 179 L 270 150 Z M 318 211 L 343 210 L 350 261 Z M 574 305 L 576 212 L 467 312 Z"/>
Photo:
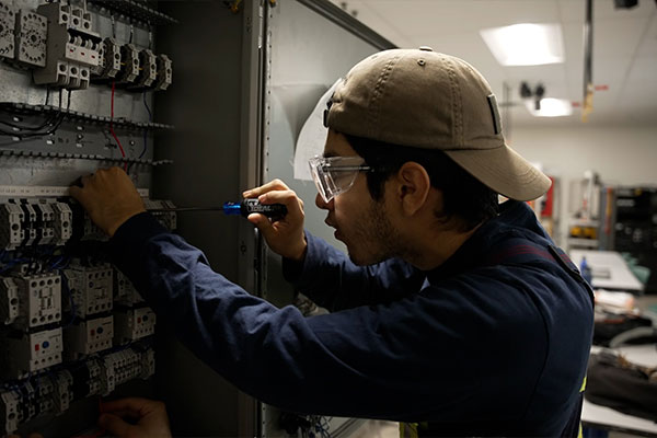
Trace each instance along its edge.
<path fill-rule="evenodd" d="M 423 423 L 426 436 L 576 435 L 591 291 L 525 203 L 498 205 L 550 180 L 505 145 L 484 78 L 426 47 L 382 51 L 347 74 L 325 124 L 316 205 L 348 257 L 303 231 L 283 182 L 244 196 L 287 206 L 249 220 L 327 315 L 276 309 L 211 272 L 118 169 L 71 195 L 187 346 L 264 402 Z"/>

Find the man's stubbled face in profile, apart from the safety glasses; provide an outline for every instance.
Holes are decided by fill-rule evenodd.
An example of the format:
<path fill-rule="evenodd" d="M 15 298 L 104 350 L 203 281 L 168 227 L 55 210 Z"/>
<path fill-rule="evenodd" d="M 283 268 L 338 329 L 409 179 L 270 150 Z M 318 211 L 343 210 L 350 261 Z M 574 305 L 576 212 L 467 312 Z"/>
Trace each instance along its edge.
<path fill-rule="evenodd" d="M 342 134 L 328 130 L 324 157 L 358 157 Z M 347 245 L 351 262 L 371 265 L 399 254 L 400 240 L 385 206 L 370 196 L 367 176 L 359 172 L 354 185 L 328 203 L 318 194 L 315 204 L 328 211 L 326 224 L 335 228 L 335 238 Z"/>

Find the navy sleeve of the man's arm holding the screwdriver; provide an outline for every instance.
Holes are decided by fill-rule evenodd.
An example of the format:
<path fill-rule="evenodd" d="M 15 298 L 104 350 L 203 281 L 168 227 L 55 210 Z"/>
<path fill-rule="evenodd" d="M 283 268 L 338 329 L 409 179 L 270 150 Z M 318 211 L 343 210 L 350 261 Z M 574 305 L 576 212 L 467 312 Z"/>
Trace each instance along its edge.
<path fill-rule="evenodd" d="M 283 273 L 314 302 L 338 311 L 389 303 L 423 286 L 425 273 L 399 258 L 357 266 L 342 251 L 306 231 L 308 252 L 301 263 L 283 261 Z"/>

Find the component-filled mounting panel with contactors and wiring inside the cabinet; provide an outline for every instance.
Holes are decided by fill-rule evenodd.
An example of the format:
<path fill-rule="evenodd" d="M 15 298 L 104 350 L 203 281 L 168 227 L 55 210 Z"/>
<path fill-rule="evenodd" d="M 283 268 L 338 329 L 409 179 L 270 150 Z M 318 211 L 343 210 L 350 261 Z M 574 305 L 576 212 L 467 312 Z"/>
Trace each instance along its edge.
<path fill-rule="evenodd" d="M 142 2 L 0 0 L 0 436 L 155 371 L 154 313 L 68 186 L 118 165 L 147 208 L 174 207 L 149 196 L 173 163 L 153 102 L 173 84 L 155 26 L 174 23 Z"/>

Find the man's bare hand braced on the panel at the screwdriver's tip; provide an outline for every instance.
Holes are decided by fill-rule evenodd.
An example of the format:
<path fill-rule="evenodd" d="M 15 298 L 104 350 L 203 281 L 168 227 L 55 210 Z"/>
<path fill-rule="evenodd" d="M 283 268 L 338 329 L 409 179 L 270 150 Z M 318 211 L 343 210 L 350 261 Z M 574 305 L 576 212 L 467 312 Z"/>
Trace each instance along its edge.
<path fill-rule="evenodd" d="M 132 181 L 120 168 L 99 169 L 93 175 L 82 176 L 81 181 L 82 187 L 71 186 L 70 195 L 110 237 L 126 220 L 146 211 Z"/>

